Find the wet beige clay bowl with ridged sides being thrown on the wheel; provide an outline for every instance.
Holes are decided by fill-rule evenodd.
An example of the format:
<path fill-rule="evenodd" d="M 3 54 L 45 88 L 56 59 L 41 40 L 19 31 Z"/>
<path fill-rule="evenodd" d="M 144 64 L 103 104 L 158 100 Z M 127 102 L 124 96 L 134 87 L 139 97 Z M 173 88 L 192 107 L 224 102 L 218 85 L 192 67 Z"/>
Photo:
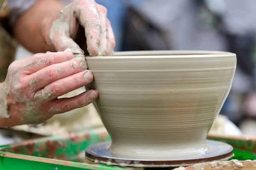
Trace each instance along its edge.
<path fill-rule="evenodd" d="M 229 94 L 236 54 L 131 51 L 86 60 L 112 156 L 181 158 L 209 149 L 207 133 Z"/>

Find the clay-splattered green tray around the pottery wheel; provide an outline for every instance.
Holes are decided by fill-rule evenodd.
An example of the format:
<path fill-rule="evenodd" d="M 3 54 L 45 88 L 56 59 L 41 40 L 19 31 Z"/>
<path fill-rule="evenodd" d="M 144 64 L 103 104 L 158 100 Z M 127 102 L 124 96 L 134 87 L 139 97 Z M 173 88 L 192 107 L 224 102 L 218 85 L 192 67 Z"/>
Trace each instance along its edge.
<path fill-rule="evenodd" d="M 233 159 L 247 160 L 256 158 L 256 138 L 254 137 L 209 135 L 208 139 L 231 144 L 234 147 L 235 154 Z M 0 146 L 0 170 L 127 169 L 102 164 L 91 164 L 89 161 L 86 162 L 84 160 L 84 150 L 87 146 L 110 140 L 105 129 L 98 129 Z M 81 162 L 81 160 L 84 162 Z"/>

